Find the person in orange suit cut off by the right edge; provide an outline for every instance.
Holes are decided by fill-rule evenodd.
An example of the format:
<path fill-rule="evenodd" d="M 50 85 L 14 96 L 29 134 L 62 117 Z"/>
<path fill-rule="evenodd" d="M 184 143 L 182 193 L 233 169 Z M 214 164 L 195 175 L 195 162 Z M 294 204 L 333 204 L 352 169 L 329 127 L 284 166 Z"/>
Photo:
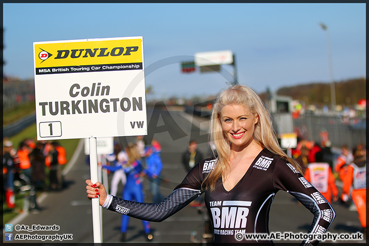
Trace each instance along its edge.
<path fill-rule="evenodd" d="M 361 227 L 366 233 L 366 151 L 355 149 L 354 160 L 347 167 L 342 192 L 350 195 L 356 206 Z"/>

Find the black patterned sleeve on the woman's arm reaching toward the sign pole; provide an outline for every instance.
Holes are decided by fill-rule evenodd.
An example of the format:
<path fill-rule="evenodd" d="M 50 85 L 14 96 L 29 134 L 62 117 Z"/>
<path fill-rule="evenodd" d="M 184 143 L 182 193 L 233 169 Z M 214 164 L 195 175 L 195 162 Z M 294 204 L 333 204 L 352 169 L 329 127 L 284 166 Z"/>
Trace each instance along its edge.
<path fill-rule="evenodd" d="M 199 165 L 196 165 L 174 191 L 159 203 L 145 203 L 123 200 L 113 196 L 109 210 L 128 216 L 160 222 L 186 207 L 201 195 Z"/>

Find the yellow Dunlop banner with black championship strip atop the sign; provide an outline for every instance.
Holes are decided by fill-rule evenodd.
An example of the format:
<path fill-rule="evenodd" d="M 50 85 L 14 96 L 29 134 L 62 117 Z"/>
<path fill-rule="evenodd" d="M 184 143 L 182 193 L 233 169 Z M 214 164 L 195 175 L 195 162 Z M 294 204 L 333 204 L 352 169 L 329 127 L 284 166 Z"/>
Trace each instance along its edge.
<path fill-rule="evenodd" d="M 34 43 L 35 74 L 142 70 L 142 39 Z"/>

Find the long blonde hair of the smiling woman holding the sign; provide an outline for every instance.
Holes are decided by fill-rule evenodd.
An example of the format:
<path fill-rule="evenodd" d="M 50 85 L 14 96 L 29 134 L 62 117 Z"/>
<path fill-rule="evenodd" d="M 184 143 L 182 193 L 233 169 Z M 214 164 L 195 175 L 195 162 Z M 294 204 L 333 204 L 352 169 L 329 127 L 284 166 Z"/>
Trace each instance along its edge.
<path fill-rule="evenodd" d="M 242 105 L 249 108 L 254 118 L 259 117 L 258 122 L 255 124 L 253 134 L 255 141 L 261 145 L 262 148 L 266 148 L 272 153 L 286 159 L 301 172 L 302 169 L 298 162 L 286 155 L 279 146 L 277 134 L 272 126 L 272 117 L 260 97 L 247 86 L 234 85 L 223 90 L 218 95 L 211 113 L 209 140 L 214 143 L 218 157 L 214 170 L 203 181 L 205 187 L 209 187 L 210 190 L 213 191 L 217 180 L 229 165 L 231 152 L 230 142 L 222 131 L 220 121 L 221 110 L 226 105 Z"/>

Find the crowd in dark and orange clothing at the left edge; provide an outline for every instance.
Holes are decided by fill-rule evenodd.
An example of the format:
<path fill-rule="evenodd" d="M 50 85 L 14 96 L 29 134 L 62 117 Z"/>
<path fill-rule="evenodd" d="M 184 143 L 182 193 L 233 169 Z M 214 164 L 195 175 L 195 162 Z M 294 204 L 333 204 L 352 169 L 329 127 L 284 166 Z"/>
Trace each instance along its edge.
<path fill-rule="evenodd" d="M 57 141 L 26 138 L 15 148 L 11 140 L 3 139 L 3 194 L 7 207 L 19 212 L 29 209 L 32 213 L 38 213 L 40 208 L 36 193 L 61 190 L 61 169 L 66 163 L 66 150 Z M 15 194 L 21 190 L 29 191 L 29 208 L 16 208 Z"/>

